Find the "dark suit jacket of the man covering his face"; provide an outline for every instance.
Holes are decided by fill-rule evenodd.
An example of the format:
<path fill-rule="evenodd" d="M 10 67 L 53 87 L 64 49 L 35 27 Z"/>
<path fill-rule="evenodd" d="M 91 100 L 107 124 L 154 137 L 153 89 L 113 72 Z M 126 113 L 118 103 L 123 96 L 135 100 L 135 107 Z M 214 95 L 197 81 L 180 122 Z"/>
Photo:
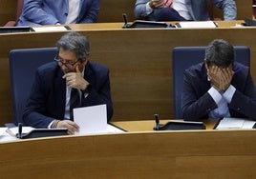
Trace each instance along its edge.
<path fill-rule="evenodd" d="M 249 72 L 249 68 L 235 63 L 234 69 L 242 70 L 235 73 L 231 84 L 236 89 L 228 105 L 231 117 L 246 117 L 256 120 L 256 89 Z M 184 120 L 199 120 L 208 118 L 208 113 L 217 105 L 207 92 L 211 88 L 207 80 L 203 63 L 184 71 L 182 91 L 182 113 Z"/>

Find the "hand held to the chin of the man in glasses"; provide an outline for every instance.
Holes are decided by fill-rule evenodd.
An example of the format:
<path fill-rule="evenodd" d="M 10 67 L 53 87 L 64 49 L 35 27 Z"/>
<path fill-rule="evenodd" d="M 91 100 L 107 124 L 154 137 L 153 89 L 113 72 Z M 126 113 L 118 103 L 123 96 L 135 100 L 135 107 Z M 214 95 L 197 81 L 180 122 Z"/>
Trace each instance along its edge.
<path fill-rule="evenodd" d="M 82 72 L 78 66 L 75 68 L 76 72 L 68 72 L 62 78 L 66 79 L 67 86 L 73 89 L 86 89 L 89 83 L 83 78 Z"/>

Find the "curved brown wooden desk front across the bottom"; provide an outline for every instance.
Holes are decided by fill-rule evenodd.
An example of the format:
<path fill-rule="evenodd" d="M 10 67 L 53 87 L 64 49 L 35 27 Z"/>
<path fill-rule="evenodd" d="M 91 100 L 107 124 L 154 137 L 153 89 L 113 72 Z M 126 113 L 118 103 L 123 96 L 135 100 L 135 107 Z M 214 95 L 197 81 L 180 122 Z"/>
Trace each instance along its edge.
<path fill-rule="evenodd" d="M 254 130 L 139 131 L 28 139 L 0 143 L 0 173 L 1 178 L 27 179 L 255 178 L 255 144 Z"/>

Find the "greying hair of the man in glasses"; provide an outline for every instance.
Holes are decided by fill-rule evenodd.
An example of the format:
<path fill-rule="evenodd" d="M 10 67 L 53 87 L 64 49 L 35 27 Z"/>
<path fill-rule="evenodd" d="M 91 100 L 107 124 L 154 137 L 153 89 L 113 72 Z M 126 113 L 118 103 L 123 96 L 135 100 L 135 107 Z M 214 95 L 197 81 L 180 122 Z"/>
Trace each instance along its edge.
<path fill-rule="evenodd" d="M 85 55 L 90 54 L 90 44 L 87 37 L 76 31 L 66 33 L 57 41 L 57 50 L 60 48 L 74 51 L 80 61 L 83 61 Z"/>

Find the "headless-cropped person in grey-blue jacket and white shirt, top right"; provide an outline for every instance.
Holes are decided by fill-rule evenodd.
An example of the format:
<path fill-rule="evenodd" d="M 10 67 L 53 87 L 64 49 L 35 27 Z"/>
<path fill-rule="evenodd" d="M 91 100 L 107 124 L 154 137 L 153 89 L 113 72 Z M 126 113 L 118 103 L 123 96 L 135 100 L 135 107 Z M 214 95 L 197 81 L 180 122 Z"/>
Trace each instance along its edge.
<path fill-rule="evenodd" d="M 135 16 L 150 21 L 206 21 L 210 20 L 208 2 L 224 11 L 224 20 L 235 20 L 234 0 L 137 0 Z"/>

